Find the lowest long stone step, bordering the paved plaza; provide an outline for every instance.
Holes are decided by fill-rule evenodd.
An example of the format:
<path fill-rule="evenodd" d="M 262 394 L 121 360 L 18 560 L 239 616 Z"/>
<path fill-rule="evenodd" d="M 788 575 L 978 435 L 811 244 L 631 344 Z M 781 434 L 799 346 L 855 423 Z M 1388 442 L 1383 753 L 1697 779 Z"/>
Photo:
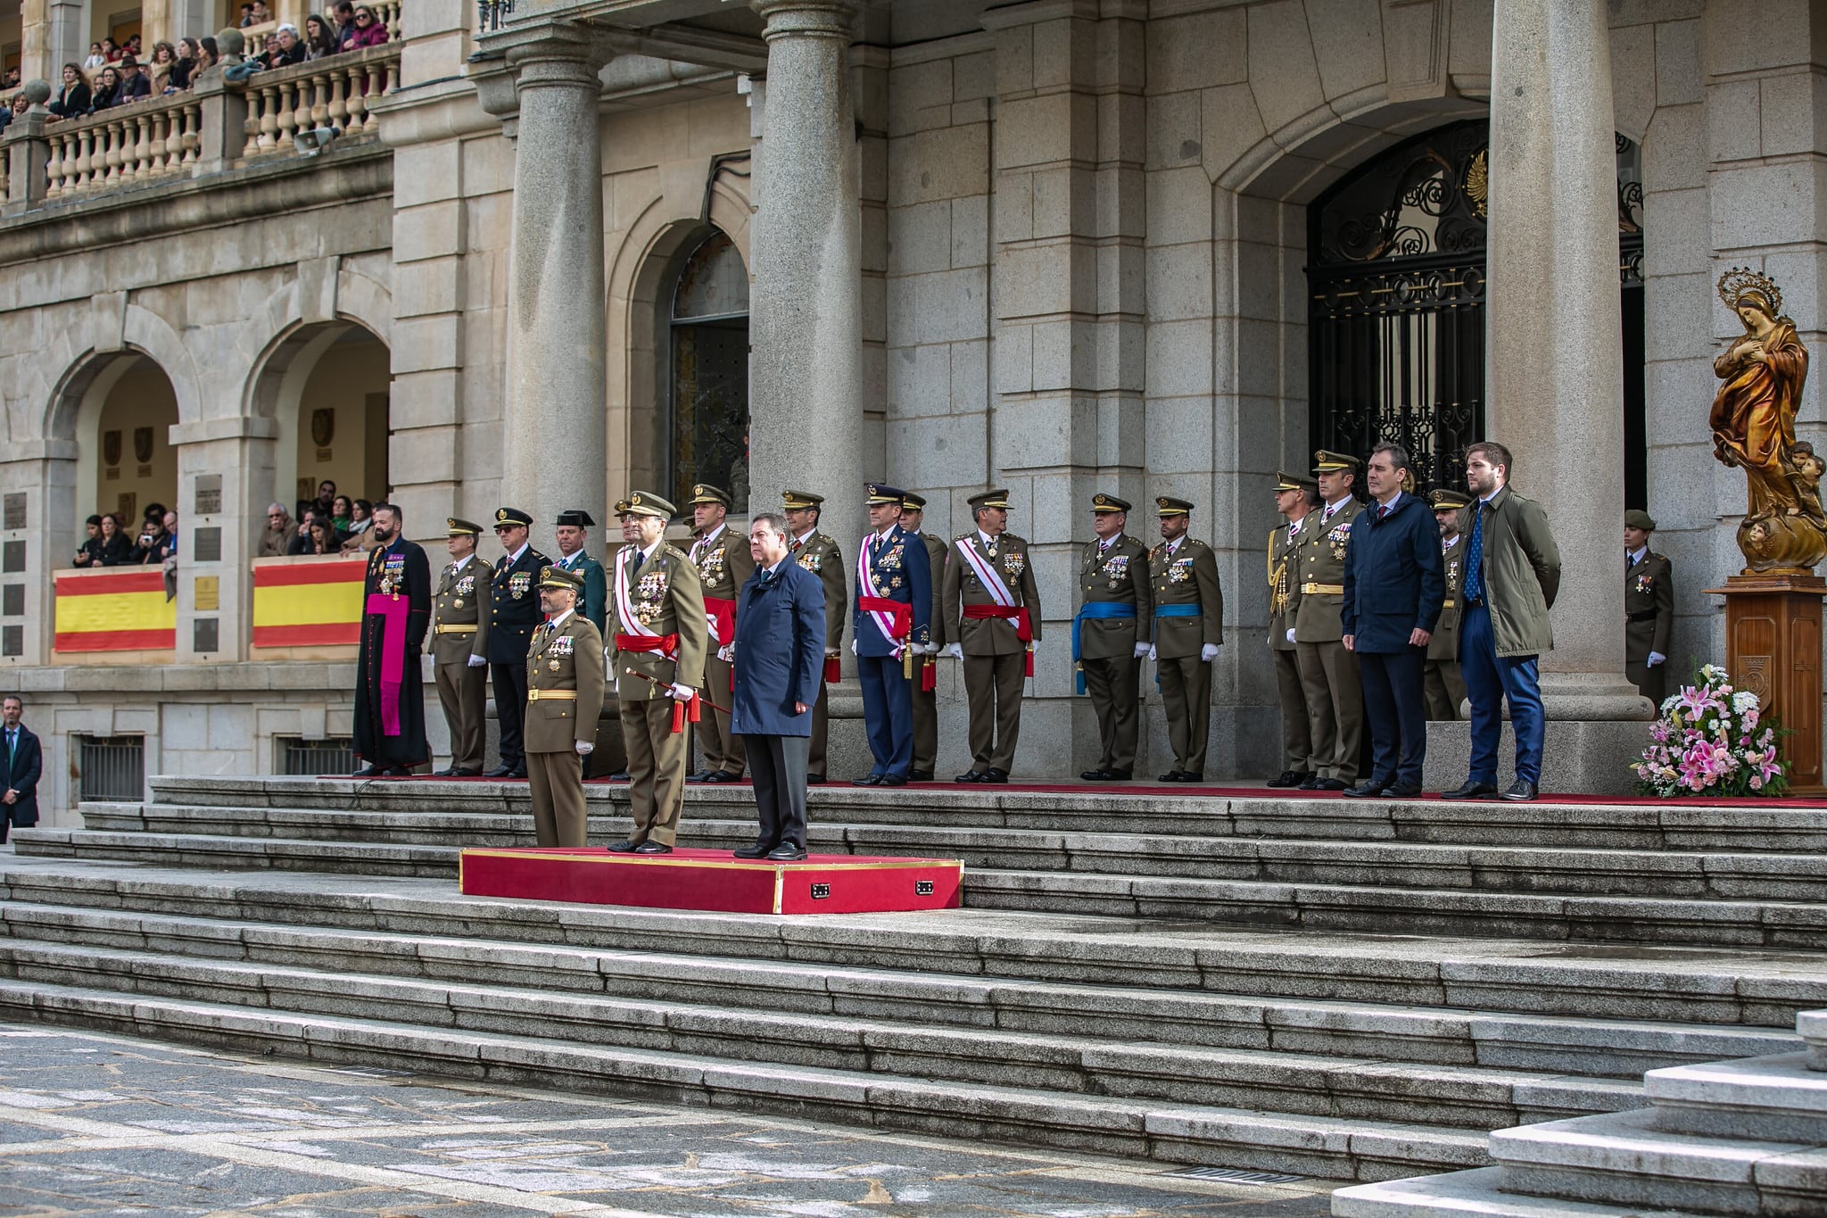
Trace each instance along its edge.
<path fill-rule="evenodd" d="M 0 981 L 9 1019 L 106 1028 L 252 1052 L 303 1054 L 451 1077 L 714 1103 L 797 1118 L 1019 1141 L 1102 1154 L 1319 1178 L 1381 1180 L 1484 1161 L 1467 1130 L 1279 1116 L 864 1074 L 713 1055 L 552 1043 L 343 1015 L 248 1010 L 177 997 Z"/>

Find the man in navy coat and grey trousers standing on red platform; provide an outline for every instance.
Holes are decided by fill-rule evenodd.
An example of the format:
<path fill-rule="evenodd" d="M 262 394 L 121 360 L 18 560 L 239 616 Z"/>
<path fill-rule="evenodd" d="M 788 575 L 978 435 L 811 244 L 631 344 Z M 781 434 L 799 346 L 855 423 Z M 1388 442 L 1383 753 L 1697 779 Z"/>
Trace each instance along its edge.
<path fill-rule="evenodd" d="M 762 831 L 755 845 L 734 855 L 797 862 L 806 856 L 806 760 L 824 668 L 824 581 L 787 559 L 787 522 L 775 511 L 749 520 L 749 553 L 755 573 L 736 593 L 729 730 L 747 749 Z"/>

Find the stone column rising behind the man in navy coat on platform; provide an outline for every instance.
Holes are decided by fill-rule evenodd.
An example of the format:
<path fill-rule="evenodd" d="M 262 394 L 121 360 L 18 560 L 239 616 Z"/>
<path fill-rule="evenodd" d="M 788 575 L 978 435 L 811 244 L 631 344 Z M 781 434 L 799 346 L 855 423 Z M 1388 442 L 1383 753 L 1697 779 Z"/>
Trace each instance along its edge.
<path fill-rule="evenodd" d="M 755 159 L 749 486 L 795 488 L 851 555 L 862 519 L 862 219 L 850 93 L 853 0 L 755 0 L 767 82 Z M 524 122 L 524 119 L 523 119 Z M 524 135 L 523 135 L 524 139 Z M 738 504 L 740 508 L 742 504 Z"/>

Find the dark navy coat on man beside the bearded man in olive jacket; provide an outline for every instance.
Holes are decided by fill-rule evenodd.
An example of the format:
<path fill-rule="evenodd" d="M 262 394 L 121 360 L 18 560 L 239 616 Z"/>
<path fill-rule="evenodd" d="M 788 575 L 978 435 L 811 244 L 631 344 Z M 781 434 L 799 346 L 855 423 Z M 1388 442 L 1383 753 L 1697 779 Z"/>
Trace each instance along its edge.
<path fill-rule="evenodd" d="M 1447 595 L 1432 509 L 1403 491 L 1387 519 L 1376 517 L 1372 500 L 1352 520 L 1345 551 L 1341 621 L 1345 634 L 1357 635 L 1359 654 L 1399 652 L 1410 632 L 1432 634 Z"/>

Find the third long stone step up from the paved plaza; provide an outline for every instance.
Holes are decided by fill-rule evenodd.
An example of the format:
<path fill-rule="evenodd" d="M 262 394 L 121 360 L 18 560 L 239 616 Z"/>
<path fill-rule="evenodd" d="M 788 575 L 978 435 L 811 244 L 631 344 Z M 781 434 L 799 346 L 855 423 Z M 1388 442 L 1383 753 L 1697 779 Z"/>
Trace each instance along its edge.
<path fill-rule="evenodd" d="M 1040 1035 L 1104 1037 L 1120 1026 L 1125 1041 L 1138 1043 L 1628 1077 L 1632 1083 L 1655 1066 L 1783 1054 L 1798 1045 L 1792 1034 L 1774 1028 L 1262 999 L 428 935 L 375 939 L 354 929 L 82 906 L 11 902 L 0 909 L 0 928 L 15 944 L 73 942 L 90 950 Z"/>

